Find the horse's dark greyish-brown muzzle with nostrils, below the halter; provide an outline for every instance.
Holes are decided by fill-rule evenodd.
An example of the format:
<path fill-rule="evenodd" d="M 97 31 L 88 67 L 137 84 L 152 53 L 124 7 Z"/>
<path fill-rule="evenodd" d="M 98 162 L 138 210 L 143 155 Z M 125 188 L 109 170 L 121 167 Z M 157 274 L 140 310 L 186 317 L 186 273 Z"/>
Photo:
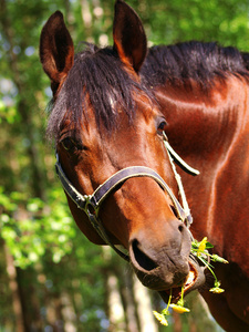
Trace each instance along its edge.
<path fill-rule="evenodd" d="M 143 234 L 137 234 L 129 242 L 129 258 L 136 276 L 145 287 L 156 291 L 180 287 L 189 274 L 193 280 L 188 282 L 193 283 L 200 274 L 189 258 L 191 241 L 186 226 L 172 220 L 168 228 L 164 242 L 157 238 L 153 241 L 152 236 L 146 238 Z"/>

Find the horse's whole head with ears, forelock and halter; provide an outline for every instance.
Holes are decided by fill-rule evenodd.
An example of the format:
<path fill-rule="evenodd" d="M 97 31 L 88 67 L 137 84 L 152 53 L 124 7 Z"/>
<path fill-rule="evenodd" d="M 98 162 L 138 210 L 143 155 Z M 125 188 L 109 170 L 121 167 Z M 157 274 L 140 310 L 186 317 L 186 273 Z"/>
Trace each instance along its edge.
<path fill-rule="evenodd" d="M 94 243 L 122 245 L 142 283 L 166 300 L 165 290 L 194 289 L 204 274 L 189 258 L 191 236 L 164 145 L 167 123 L 139 79 L 144 28 L 121 0 L 113 38 L 112 48 L 74 54 L 62 13 L 51 15 L 40 42 L 53 91 L 48 133 L 79 228 Z"/>

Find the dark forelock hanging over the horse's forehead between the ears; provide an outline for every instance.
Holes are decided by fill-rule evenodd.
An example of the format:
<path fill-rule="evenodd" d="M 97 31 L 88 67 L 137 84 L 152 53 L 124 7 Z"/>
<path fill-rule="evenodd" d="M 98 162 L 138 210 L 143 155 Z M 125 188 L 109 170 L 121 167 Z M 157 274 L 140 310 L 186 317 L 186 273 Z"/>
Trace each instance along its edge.
<path fill-rule="evenodd" d="M 117 108 L 133 121 L 135 114 L 134 93 L 149 92 L 138 81 L 134 81 L 124 70 L 124 65 L 113 48 L 98 49 L 84 43 L 86 49 L 74 58 L 74 65 L 51 106 L 48 136 L 58 139 L 66 118 L 74 124 L 81 123 L 84 114 L 87 121 L 87 102 L 94 110 L 96 123 L 102 123 L 111 133 L 116 126 Z"/>

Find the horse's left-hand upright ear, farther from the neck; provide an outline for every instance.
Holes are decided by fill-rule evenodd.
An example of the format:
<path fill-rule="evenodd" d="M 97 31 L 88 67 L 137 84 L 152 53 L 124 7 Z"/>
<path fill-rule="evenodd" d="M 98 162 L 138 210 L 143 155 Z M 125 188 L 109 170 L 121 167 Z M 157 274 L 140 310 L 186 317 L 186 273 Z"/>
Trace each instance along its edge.
<path fill-rule="evenodd" d="M 73 41 L 65 27 L 63 14 L 55 11 L 42 29 L 40 38 L 40 61 L 51 80 L 53 94 L 73 65 Z"/>

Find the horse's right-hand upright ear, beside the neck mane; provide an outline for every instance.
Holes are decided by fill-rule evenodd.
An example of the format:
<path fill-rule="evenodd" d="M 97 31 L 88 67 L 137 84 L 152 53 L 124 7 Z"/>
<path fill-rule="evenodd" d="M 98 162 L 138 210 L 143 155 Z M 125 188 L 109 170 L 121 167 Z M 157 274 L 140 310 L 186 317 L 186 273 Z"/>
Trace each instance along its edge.
<path fill-rule="evenodd" d="M 138 72 L 147 53 L 147 39 L 141 19 L 123 0 L 115 3 L 113 40 L 122 62 Z"/>

